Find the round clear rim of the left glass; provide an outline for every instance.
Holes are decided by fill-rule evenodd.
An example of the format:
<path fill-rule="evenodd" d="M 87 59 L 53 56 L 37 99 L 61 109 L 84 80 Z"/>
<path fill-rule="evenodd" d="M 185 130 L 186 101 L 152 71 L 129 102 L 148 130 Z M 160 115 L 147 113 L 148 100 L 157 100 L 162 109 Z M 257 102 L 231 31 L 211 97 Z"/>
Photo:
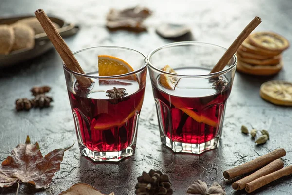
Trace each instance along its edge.
<path fill-rule="evenodd" d="M 142 55 L 142 57 L 144 58 L 144 61 L 145 62 L 144 62 L 144 65 L 141 66 L 137 70 L 134 70 L 132 72 L 125 73 L 125 74 L 122 74 L 122 75 L 112 75 L 112 76 L 92 76 L 92 75 L 88 75 L 88 74 L 77 73 L 75 71 L 70 70 L 65 65 L 64 61 L 62 61 L 63 67 L 65 68 L 66 71 L 68 71 L 69 73 L 72 73 L 73 75 L 83 76 L 83 77 L 87 77 L 87 78 L 120 78 L 120 77 L 131 76 L 131 75 L 134 75 L 136 73 L 139 73 L 142 70 L 144 70 L 147 67 L 147 65 L 148 65 L 148 59 L 146 58 L 146 56 L 144 54 L 142 54 L 141 52 L 139 52 L 139 51 L 137 51 L 135 49 L 130 49 L 130 48 L 127 48 L 127 47 L 120 47 L 120 46 L 95 46 L 95 47 L 87 47 L 87 48 L 84 48 L 84 49 L 77 50 L 77 51 L 73 52 L 73 55 L 78 54 L 78 53 L 83 52 L 83 51 L 86 51 L 86 50 L 89 50 L 89 49 L 96 49 L 96 48 L 124 49 L 124 50 L 132 51 L 132 52 L 137 52 L 140 55 Z"/>

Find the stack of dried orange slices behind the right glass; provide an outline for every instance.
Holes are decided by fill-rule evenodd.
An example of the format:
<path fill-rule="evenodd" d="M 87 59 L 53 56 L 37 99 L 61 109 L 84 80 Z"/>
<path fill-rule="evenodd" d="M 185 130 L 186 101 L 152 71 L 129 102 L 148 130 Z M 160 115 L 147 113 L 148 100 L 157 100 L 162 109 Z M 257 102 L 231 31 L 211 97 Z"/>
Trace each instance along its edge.
<path fill-rule="evenodd" d="M 253 33 L 237 50 L 237 70 L 251 75 L 277 74 L 283 67 L 281 53 L 288 47 L 288 40 L 281 35 Z"/>

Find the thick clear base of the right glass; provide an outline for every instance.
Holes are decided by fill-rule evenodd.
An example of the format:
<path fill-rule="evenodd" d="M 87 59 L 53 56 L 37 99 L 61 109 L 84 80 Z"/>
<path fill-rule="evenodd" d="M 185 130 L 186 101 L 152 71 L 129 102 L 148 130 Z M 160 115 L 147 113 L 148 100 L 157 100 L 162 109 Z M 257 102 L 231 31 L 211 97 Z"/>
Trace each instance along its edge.
<path fill-rule="evenodd" d="M 161 142 L 171 148 L 173 152 L 183 152 L 183 153 L 193 153 L 193 154 L 201 154 L 208 150 L 212 150 L 218 147 L 219 145 L 219 137 L 216 137 L 210 141 L 201 144 L 190 144 L 183 142 L 172 141 L 168 137 L 161 137 Z"/>

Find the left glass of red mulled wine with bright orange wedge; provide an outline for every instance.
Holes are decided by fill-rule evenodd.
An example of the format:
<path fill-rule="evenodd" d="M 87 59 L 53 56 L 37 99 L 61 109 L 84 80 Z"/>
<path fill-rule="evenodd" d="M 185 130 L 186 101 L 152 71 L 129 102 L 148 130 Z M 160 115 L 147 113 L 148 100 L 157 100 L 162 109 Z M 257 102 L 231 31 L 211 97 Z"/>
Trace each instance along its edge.
<path fill-rule="evenodd" d="M 94 161 L 119 161 L 133 155 L 144 99 L 146 57 L 111 46 L 83 49 L 74 56 L 85 74 L 63 67 L 81 154 Z M 90 86 L 79 86 L 82 79 L 90 80 Z"/>

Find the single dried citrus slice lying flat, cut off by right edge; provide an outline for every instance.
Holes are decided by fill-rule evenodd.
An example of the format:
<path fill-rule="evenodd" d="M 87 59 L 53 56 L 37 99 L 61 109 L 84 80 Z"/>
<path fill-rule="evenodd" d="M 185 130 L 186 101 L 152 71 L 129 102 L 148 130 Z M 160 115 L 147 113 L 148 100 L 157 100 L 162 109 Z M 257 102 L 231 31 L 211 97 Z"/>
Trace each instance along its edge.
<path fill-rule="evenodd" d="M 260 96 L 276 105 L 292 106 L 292 83 L 282 80 L 265 82 L 260 87 Z"/>

